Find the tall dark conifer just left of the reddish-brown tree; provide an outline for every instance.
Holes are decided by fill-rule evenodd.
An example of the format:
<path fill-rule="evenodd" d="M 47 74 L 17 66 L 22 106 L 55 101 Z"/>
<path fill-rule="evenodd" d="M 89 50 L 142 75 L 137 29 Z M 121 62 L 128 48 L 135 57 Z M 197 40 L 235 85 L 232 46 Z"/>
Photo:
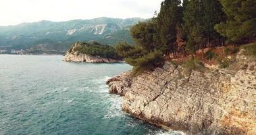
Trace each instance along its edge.
<path fill-rule="evenodd" d="M 160 39 L 161 50 L 167 55 L 169 52 L 175 53 L 177 27 L 182 23 L 182 16 L 180 0 L 165 0 L 161 3 L 156 18 L 157 38 Z"/>

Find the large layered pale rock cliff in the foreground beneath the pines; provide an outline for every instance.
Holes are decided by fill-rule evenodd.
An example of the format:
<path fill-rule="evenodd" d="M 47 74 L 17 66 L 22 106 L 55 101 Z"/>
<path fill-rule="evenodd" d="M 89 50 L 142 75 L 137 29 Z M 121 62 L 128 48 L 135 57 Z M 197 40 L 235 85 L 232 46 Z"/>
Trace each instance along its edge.
<path fill-rule="evenodd" d="M 126 72 L 107 84 L 109 92 L 124 98 L 124 111 L 151 124 L 187 134 L 256 134 L 255 61 L 242 62 L 238 72 L 189 75 L 166 62 L 153 72 L 134 78 Z"/>

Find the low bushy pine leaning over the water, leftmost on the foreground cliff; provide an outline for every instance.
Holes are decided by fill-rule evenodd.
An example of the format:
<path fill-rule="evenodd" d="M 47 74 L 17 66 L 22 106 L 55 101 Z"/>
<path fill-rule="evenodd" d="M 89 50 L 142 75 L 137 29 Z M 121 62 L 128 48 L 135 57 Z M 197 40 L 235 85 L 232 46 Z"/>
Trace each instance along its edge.
<path fill-rule="evenodd" d="M 133 73 L 139 74 L 151 70 L 163 62 L 163 53 L 154 42 L 157 33 L 154 22 L 140 22 L 130 29 L 134 45 L 120 43 L 116 46 L 118 55 L 133 66 Z"/>

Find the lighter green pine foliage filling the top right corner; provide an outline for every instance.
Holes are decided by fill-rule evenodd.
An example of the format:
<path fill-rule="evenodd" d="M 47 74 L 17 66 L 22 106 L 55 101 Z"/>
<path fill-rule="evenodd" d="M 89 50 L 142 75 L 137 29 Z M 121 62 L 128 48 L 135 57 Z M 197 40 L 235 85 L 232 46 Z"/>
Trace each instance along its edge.
<path fill-rule="evenodd" d="M 228 41 L 242 42 L 256 37 L 256 1 L 220 0 L 228 20 L 215 26 Z"/>

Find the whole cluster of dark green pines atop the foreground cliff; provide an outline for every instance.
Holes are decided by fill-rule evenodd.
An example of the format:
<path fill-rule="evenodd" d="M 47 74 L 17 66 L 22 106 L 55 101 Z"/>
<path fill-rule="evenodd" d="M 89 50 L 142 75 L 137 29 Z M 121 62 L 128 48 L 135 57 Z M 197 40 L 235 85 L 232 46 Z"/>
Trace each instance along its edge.
<path fill-rule="evenodd" d="M 130 29 L 134 45 L 120 43 L 119 55 L 135 72 L 197 49 L 240 43 L 256 36 L 255 0 L 165 0 L 157 17 Z"/>

